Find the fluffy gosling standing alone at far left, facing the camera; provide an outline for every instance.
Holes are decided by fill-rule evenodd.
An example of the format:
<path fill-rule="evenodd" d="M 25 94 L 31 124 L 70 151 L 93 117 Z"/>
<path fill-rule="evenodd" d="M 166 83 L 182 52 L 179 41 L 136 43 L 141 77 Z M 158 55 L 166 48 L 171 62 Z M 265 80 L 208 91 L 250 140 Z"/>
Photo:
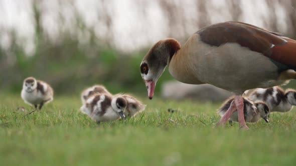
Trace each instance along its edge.
<path fill-rule="evenodd" d="M 36 109 L 38 104 L 38 108 L 41 109 L 43 104 L 52 101 L 53 95 L 53 88 L 48 83 L 36 80 L 34 77 L 24 80 L 21 96 L 26 103 L 34 105 Z"/>

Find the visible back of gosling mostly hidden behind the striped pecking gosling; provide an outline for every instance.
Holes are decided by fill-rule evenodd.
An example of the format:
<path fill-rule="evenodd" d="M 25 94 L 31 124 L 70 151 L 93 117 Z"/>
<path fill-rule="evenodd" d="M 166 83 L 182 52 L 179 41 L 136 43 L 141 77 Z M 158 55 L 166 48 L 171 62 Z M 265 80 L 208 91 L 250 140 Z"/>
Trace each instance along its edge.
<path fill-rule="evenodd" d="M 95 93 L 105 93 L 108 95 L 112 95 L 103 85 L 96 84 L 82 91 L 81 93 L 82 103 L 85 103 L 86 99 Z"/>

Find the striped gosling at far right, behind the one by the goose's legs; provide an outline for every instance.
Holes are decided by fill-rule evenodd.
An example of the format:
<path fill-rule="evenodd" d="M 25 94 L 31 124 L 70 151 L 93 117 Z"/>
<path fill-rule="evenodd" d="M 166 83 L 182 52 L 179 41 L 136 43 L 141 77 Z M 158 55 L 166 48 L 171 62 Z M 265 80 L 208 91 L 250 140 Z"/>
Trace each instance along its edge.
<path fill-rule="evenodd" d="M 293 108 L 293 105 L 296 105 L 296 91 L 293 89 L 284 91 L 279 86 L 256 88 L 250 93 L 249 98 L 253 101 L 265 102 L 271 112 L 287 112 Z"/>

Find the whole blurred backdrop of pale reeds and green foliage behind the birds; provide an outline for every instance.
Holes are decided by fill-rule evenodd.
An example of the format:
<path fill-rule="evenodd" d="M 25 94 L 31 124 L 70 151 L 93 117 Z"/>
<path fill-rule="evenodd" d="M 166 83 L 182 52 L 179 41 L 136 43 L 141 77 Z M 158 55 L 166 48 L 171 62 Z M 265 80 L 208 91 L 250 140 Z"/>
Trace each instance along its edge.
<path fill-rule="evenodd" d="M 0 91 L 20 93 L 34 76 L 56 94 L 99 83 L 146 95 L 139 64 L 158 40 L 183 44 L 228 20 L 296 38 L 295 7 L 296 0 L 0 0 Z M 166 71 L 156 90 L 169 79 Z"/>

